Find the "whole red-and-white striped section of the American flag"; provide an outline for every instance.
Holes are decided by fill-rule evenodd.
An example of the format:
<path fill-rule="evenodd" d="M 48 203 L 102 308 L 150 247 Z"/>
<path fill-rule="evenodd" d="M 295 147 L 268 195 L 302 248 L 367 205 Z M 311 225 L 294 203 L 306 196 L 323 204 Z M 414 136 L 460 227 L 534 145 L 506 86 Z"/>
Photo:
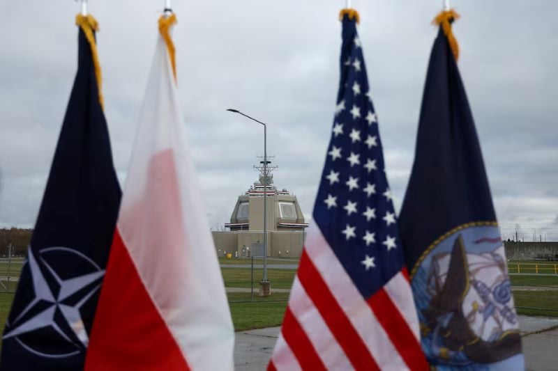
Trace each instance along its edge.
<path fill-rule="evenodd" d="M 314 222 L 269 370 L 428 370 L 405 270 L 365 300 Z"/>

